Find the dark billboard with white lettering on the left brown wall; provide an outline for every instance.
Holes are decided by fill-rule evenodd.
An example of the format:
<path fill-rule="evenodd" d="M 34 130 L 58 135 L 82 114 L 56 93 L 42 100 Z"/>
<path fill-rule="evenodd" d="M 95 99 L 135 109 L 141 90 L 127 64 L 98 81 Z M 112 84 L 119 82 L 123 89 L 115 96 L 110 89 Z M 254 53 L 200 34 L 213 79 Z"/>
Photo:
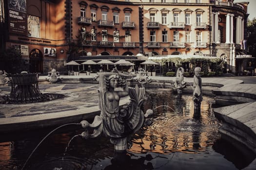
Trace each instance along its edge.
<path fill-rule="evenodd" d="M 9 32 L 27 35 L 27 14 L 12 9 L 8 10 Z"/>

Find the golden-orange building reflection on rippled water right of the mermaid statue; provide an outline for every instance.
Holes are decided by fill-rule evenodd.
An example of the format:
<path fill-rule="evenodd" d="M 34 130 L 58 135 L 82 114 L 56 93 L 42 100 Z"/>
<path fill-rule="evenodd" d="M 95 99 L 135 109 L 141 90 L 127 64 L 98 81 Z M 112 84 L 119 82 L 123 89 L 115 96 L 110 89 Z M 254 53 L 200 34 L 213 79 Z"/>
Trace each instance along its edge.
<path fill-rule="evenodd" d="M 202 102 L 202 116 L 193 119 L 192 96 L 176 95 L 172 98 L 170 91 L 148 94 L 144 109 L 152 109 L 158 105 L 153 124 L 145 127 L 135 137 L 131 152 L 155 153 L 207 153 L 206 147 L 220 138 L 218 128 L 220 124 L 212 115 L 212 98 L 204 97 Z M 151 103 L 152 101 L 152 103 Z M 175 112 L 168 107 L 174 108 Z M 168 110 L 170 112 L 168 112 Z"/>

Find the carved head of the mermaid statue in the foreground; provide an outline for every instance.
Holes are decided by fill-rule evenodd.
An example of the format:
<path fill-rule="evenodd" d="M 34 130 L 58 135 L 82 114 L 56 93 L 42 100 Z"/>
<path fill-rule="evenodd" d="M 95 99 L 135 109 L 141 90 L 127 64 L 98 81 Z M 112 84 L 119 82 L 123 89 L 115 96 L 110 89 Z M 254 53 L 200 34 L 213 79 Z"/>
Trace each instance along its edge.
<path fill-rule="evenodd" d="M 108 77 L 105 77 L 106 87 L 116 88 L 116 87 L 125 87 L 125 81 L 118 74 L 112 74 Z"/>

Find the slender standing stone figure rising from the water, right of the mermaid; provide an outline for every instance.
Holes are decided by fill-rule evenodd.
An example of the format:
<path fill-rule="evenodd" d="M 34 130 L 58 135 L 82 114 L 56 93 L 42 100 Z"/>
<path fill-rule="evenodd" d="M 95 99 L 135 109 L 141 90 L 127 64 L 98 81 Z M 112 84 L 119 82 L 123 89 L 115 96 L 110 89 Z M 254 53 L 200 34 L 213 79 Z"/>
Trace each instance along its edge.
<path fill-rule="evenodd" d="M 194 118 L 200 117 L 201 114 L 201 102 L 203 100 L 202 96 L 202 79 L 199 74 L 201 68 L 195 68 L 195 75 L 194 75 L 194 91 L 193 91 L 193 102 L 194 102 Z"/>

